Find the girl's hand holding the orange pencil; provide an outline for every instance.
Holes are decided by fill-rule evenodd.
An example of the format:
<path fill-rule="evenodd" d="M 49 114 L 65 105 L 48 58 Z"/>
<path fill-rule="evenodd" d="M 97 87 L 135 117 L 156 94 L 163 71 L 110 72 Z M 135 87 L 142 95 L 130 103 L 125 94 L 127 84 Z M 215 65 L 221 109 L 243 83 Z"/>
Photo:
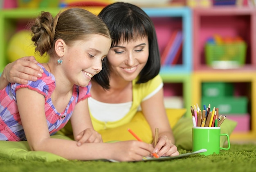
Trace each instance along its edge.
<path fill-rule="evenodd" d="M 115 144 L 110 159 L 117 161 L 141 161 L 143 157 L 152 155 L 153 146 L 137 140 L 129 140 Z"/>

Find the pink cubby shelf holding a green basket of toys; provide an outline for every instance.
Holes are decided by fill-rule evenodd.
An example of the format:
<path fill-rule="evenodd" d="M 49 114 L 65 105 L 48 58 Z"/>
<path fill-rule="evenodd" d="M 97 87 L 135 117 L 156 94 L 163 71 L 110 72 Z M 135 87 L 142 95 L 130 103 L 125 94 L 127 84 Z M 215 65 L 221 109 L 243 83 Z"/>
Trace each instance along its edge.
<path fill-rule="evenodd" d="M 256 70 L 255 30 L 255 9 L 236 7 L 193 9 L 193 69 L 216 70 L 205 62 L 204 44 L 209 37 L 218 34 L 230 37 L 240 36 L 247 43 L 245 65 L 230 71 Z"/>

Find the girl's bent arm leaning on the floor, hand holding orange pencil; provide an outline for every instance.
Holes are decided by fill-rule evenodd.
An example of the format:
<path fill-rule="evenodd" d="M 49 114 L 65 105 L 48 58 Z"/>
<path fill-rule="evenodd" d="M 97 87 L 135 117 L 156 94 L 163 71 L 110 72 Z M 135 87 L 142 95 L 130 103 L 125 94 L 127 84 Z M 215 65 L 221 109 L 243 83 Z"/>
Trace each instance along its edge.
<path fill-rule="evenodd" d="M 31 150 L 51 152 L 69 160 L 117 161 L 139 161 L 143 156 L 153 152 L 152 145 L 135 140 L 108 144 L 84 143 L 77 146 L 76 141 L 51 138 L 45 118 L 44 96 L 28 88 L 20 88 L 16 92 L 16 98 L 22 126 Z"/>

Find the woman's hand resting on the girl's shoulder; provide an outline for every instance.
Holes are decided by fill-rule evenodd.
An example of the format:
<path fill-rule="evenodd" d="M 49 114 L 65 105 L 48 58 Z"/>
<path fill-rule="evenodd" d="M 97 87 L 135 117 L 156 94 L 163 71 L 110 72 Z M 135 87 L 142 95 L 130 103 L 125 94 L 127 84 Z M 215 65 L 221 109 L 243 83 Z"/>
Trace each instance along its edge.
<path fill-rule="evenodd" d="M 34 56 L 22 57 L 9 63 L 3 74 L 9 83 L 27 84 L 28 81 L 36 81 L 42 77 L 43 69 L 37 63 Z"/>

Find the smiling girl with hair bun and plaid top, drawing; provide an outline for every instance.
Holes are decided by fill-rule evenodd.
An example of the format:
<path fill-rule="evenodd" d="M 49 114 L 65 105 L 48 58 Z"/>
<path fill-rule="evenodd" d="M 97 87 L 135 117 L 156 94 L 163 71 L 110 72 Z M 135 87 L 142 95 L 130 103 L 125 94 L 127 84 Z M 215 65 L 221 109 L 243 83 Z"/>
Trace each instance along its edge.
<path fill-rule="evenodd" d="M 27 140 L 31 150 L 66 159 L 141 160 L 153 146 L 138 141 L 103 143 L 88 111 L 90 80 L 101 71 L 111 38 L 108 27 L 84 9 L 67 9 L 52 17 L 42 12 L 33 24 L 32 41 L 48 63 L 42 77 L 0 90 L 0 140 Z M 53 135 L 70 120 L 75 141 Z"/>

